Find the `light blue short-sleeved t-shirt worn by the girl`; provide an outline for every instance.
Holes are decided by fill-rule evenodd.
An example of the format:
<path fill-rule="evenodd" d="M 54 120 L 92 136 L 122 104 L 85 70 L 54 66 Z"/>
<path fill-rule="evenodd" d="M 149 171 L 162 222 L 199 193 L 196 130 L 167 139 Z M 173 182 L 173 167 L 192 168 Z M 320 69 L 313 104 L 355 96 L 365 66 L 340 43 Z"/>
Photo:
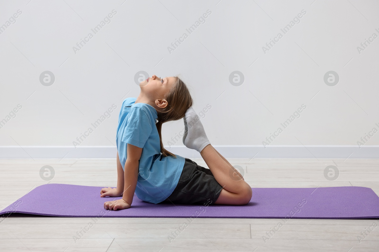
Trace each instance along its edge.
<path fill-rule="evenodd" d="M 125 170 L 127 144 L 142 149 L 135 193 L 143 201 L 160 203 L 174 192 L 182 174 L 185 158 L 161 155 L 157 110 L 129 97 L 122 102 L 116 144 L 122 169 Z"/>

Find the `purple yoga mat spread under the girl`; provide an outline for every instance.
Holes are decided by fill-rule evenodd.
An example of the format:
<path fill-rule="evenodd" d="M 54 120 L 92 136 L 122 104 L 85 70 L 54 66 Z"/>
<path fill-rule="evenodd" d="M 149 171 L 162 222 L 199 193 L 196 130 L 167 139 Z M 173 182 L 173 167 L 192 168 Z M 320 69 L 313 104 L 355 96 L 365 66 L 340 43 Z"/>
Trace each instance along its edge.
<path fill-rule="evenodd" d="M 252 188 L 244 206 L 152 204 L 134 195 L 132 207 L 105 210 L 103 187 L 45 184 L 31 190 L 0 212 L 63 217 L 171 217 L 171 218 L 298 218 L 363 219 L 379 217 L 379 197 L 368 187 Z"/>

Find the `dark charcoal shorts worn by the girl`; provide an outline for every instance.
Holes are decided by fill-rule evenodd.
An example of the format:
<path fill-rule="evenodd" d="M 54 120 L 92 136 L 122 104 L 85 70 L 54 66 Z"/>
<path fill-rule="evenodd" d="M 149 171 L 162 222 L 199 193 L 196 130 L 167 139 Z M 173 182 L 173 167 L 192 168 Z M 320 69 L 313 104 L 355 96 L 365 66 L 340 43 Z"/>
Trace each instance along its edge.
<path fill-rule="evenodd" d="M 163 202 L 213 205 L 220 196 L 221 189 L 222 186 L 216 181 L 211 170 L 186 158 L 178 185 Z"/>

